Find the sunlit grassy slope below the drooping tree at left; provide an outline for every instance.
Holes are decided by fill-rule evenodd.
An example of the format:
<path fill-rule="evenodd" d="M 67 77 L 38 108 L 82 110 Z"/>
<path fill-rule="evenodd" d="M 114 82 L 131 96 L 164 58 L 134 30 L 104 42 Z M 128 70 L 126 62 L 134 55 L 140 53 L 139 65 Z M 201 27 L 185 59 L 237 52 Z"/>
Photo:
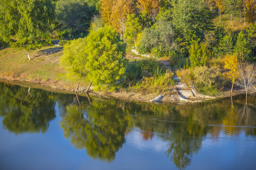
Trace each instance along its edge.
<path fill-rule="evenodd" d="M 27 51 L 13 48 L 0 50 L 0 75 L 19 76 L 23 79 L 56 80 L 57 75 L 64 76 L 64 69 L 59 66 L 62 47 L 42 47 L 30 53 L 31 60 L 27 58 Z"/>

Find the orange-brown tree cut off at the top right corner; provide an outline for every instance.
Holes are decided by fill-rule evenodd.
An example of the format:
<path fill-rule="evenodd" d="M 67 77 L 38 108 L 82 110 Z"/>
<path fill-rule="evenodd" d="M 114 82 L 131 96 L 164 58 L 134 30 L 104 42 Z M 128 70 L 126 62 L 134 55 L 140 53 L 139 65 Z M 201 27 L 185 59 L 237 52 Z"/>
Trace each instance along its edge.
<path fill-rule="evenodd" d="M 245 0 L 245 17 L 252 23 L 256 20 L 256 0 Z"/>

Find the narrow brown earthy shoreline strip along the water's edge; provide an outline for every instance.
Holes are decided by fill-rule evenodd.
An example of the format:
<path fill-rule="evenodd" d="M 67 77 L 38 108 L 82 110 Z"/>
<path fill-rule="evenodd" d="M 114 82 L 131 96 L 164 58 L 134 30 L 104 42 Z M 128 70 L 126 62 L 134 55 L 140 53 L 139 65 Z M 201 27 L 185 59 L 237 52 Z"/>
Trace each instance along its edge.
<path fill-rule="evenodd" d="M 60 84 L 55 84 L 55 83 L 49 83 L 49 82 L 36 82 L 36 81 L 31 81 L 31 80 L 26 80 L 26 79 L 19 79 L 18 77 L 16 78 L 4 78 L 0 76 L 0 82 L 7 82 L 12 85 L 22 85 L 22 86 L 27 86 L 31 88 L 39 88 L 43 90 L 48 90 L 51 92 L 55 93 L 68 93 L 68 94 L 75 94 L 73 92 L 73 89 L 65 89 L 65 85 L 61 86 Z M 60 82 L 58 82 L 60 83 Z M 63 82 L 62 82 L 63 83 Z M 66 83 L 64 83 L 66 84 Z M 175 89 L 174 89 L 175 91 Z M 187 100 L 187 99 L 181 99 L 179 97 L 180 95 L 177 93 L 162 93 L 163 99 L 159 102 L 165 102 L 165 103 L 198 103 L 198 102 L 206 102 L 206 101 L 212 101 L 212 100 L 218 100 L 222 99 L 225 97 L 230 97 L 230 96 L 235 96 L 239 94 L 245 93 L 244 91 L 238 91 L 238 92 L 233 92 L 231 95 L 228 94 L 230 92 L 226 92 L 225 95 L 222 96 L 216 96 L 216 98 L 195 98 L 193 100 Z M 86 93 L 83 93 L 81 91 L 78 91 L 77 94 L 79 95 L 85 95 Z M 150 102 L 150 100 L 155 99 L 159 94 L 153 93 L 153 94 L 141 94 L 141 93 L 134 93 L 134 92 L 97 92 L 97 91 L 91 91 L 89 93 L 91 96 L 95 97 L 101 97 L 101 98 L 112 98 L 112 99 L 117 99 L 120 101 L 134 101 L 134 102 Z M 177 96 L 179 95 L 179 96 Z M 157 102 L 156 102 L 157 103 Z"/>

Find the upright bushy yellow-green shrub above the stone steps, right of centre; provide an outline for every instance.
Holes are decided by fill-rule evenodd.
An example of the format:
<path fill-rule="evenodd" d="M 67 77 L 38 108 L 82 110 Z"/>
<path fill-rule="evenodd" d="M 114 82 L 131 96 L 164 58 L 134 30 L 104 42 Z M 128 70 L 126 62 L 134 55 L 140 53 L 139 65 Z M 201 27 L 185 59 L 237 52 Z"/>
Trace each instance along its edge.
<path fill-rule="evenodd" d="M 191 67 L 207 66 L 209 63 L 210 51 L 206 43 L 192 42 L 189 50 Z"/>

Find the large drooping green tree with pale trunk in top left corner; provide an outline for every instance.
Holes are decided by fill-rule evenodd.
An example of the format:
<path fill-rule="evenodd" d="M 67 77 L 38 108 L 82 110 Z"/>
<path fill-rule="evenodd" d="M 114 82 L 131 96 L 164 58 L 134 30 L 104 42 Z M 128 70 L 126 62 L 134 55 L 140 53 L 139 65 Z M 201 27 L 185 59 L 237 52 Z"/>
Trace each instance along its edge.
<path fill-rule="evenodd" d="M 29 51 L 41 47 L 39 40 L 49 40 L 54 20 L 51 0 L 1 0 L 0 39 Z"/>

